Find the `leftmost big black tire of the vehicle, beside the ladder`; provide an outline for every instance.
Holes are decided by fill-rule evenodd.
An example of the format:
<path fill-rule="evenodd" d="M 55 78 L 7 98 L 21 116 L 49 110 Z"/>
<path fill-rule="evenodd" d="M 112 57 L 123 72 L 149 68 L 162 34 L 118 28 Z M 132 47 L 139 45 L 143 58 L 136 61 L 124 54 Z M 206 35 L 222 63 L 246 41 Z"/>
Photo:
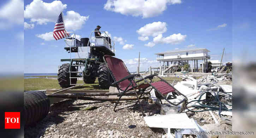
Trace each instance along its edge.
<path fill-rule="evenodd" d="M 68 88 L 74 85 L 70 85 L 70 78 L 69 78 L 69 66 L 70 64 L 62 64 L 59 69 L 58 73 L 58 81 L 59 85 L 62 88 Z M 71 71 L 76 71 L 75 67 L 71 67 Z M 76 77 L 77 73 L 71 73 L 71 77 Z M 77 83 L 77 78 L 72 78 L 71 79 L 71 84 L 76 84 Z"/>

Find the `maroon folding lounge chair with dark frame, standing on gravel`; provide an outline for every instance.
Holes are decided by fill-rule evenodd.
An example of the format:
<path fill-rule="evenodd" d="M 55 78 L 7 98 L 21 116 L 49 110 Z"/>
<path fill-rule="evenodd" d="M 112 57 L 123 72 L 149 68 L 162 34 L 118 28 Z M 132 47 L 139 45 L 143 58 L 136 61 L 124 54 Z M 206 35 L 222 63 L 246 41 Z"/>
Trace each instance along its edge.
<path fill-rule="evenodd" d="M 187 97 L 185 95 L 183 95 L 182 93 L 180 93 L 178 90 L 176 90 L 166 80 L 159 77 L 157 74 L 149 75 L 149 76 L 143 78 L 140 74 L 130 74 L 130 72 L 127 70 L 127 67 L 125 66 L 124 62 L 121 59 L 118 59 L 118 58 L 115 58 L 115 57 L 112 57 L 109 55 L 105 55 L 103 60 L 104 60 L 105 64 L 107 65 L 107 68 L 114 80 L 114 83 L 112 83 L 112 86 L 117 87 L 117 89 L 119 91 L 119 95 L 118 95 L 119 100 L 121 99 L 122 96 L 124 96 L 125 94 L 128 94 L 128 93 L 131 93 L 131 91 L 132 91 L 132 93 L 135 92 L 135 94 L 138 98 L 138 101 L 139 101 L 139 98 L 141 98 L 143 94 L 146 94 L 145 91 L 150 90 L 150 89 L 152 90 L 154 88 L 156 97 L 159 98 L 160 101 L 161 101 L 161 99 L 165 99 L 168 103 L 170 103 L 174 106 L 177 106 L 181 103 L 186 104 Z M 154 76 L 158 77 L 160 79 L 160 81 L 152 82 L 152 79 L 154 78 Z M 135 81 L 134 80 L 135 77 L 140 77 L 141 79 Z M 149 79 L 150 82 L 147 79 Z M 146 84 L 139 84 L 139 85 L 137 84 L 138 82 L 143 81 L 143 80 L 146 82 Z M 141 93 L 141 95 L 139 97 L 138 97 L 138 92 Z M 178 95 L 178 96 L 182 95 L 185 98 L 182 101 L 180 101 L 178 104 L 173 104 L 169 100 L 167 100 L 165 96 L 163 96 L 170 92 L 172 92 L 173 99 L 176 98 L 176 95 Z M 115 110 L 115 108 L 117 107 L 119 100 L 115 104 L 115 107 L 114 107 L 115 112 L 117 111 L 117 110 Z M 136 104 L 138 103 L 138 101 L 136 102 Z M 162 104 L 162 101 L 161 101 L 161 104 Z"/>

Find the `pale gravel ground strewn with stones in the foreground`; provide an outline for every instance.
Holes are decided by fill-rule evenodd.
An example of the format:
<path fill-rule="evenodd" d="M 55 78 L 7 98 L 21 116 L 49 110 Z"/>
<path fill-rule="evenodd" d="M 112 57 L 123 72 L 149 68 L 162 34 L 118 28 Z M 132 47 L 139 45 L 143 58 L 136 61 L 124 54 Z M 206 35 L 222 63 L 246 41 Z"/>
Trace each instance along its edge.
<path fill-rule="evenodd" d="M 114 112 L 114 103 L 109 101 L 64 100 L 53 104 L 42 121 L 26 128 L 25 138 L 167 138 L 163 129 L 149 128 L 141 113 L 143 110 L 145 116 L 159 115 L 160 107 L 147 100 L 136 106 L 133 104 L 135 101 L 121 103 L 119 107 L 125 108 Z M 93 109 L 83 110 L 89 106 Z M 214 124 L 208 111 L 187 114 L 201 126 Z M 219 116 L 214 115 L 220 121 Z M 200 121 L 201 118 L 204 122 Z M 132 126 L 135 128 L 129 128 Z M 174 136 L 174 130 L 172 134 Z M 193 138 L 189 135 L 183 137 Z"/>

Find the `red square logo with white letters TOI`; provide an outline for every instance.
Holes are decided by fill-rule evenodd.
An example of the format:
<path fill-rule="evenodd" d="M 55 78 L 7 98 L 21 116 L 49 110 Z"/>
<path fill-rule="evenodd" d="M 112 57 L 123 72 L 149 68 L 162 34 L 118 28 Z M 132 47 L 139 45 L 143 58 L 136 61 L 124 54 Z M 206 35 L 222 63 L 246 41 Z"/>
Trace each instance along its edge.
<path fill-rule="evenodd" d="M 5 112 L 5 129 L 20 129 L 20 112 Z"/>

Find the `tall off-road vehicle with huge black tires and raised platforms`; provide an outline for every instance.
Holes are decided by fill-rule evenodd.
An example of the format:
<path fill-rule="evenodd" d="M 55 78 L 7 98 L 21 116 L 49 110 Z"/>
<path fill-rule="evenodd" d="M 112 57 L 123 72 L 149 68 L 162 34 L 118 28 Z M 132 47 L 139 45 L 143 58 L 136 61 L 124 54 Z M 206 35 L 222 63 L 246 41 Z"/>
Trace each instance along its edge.
<path fill-rule="evenodd" d="M 103 36 L 95 37 L 95 32 L 101 32 Z M 70 58 L 60 60 L 68 62 L 59 66 L 60 86 L 67 88 L 81 85 L 77 84 L 78 78 L 82 78 L 86 84 L 93 84 L 98 77 L 100 88 L 109 88 L 113 79 L 104 64 L 103 56 L 115 56 L 115 44 L 111 42 L 108 34 L 105 31 L 92 31 L 89 38 L 81 38 L 79 41 L 74 34 L 73 37 L 66 37 L 64 41 L 64 49 L 70 53 Z"/>

